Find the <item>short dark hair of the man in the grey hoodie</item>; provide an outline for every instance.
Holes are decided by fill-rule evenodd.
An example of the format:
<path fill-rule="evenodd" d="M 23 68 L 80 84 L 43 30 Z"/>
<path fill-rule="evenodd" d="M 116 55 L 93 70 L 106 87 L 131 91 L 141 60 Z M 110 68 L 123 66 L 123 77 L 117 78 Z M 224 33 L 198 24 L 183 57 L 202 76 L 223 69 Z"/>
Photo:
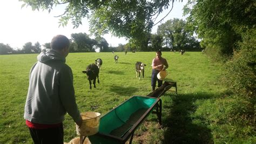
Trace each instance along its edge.
<path fill-rule="evenodd" d="M 69 45 L 70 45 L 69 39 L 63 35 L 57 35 L 53 37 L 50 44 L 51 49 L 58 50 L 58 51 L 66 47 L 69 47 Z"/>

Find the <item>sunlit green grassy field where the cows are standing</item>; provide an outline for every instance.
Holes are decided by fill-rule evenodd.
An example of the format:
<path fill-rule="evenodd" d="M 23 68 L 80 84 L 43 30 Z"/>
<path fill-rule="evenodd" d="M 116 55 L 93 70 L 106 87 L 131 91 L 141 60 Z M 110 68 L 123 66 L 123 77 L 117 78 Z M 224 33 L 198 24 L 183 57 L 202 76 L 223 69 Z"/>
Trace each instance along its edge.
<path fill-rule="evenodd" d="M 67 57 L 66 64 L 73 71 L 80 112 L 94 111 L 105 114 L 132 95 L 147 95 L 151 92 L 151 62 L 155 52 L 115 54 L 119 56 L 117 64 L 114 64 L 112 53 L 70 53 Z M 37 61 L 36 56 L 37 54 L 0 56 L 0 143 L 32 143 L 23 113 L 29 71 Z M 218 119 L 221 119 L 219 108 L 223 105 L 221 99 L 226 89 L 218 83 L 220 65 L 212 64 L 200 52 L 186 52 L 183 56 L 179 53 L 163 52 L 163 57 L 169 63 L 166 81 L 177 81 L 178 95 L 167 92 L 161 97 L 163 125 L 158 124 L 156 115 L 149 115 L 137 129 L 133 143 L 252 141 L 253 137 L 231 135 L 230 132 L 226 132 L 232 128 L 228 124 L 221 125 L 223 127 L 217 124 Z M 103 59 L 102 70 L 99 73 L 100 84 L 96 83 L 96 88 L 92 87 L 90 90 L 89 82 L 82 70 L 85 70 L 88 64 L 94 63 L 97 58 Z M 136 61 L 146 64 L 144 79 L 136 78 Z M 65 118 L 64 141 L 68 142 L 77 135 L 72 118 L 69 115 Z"/>

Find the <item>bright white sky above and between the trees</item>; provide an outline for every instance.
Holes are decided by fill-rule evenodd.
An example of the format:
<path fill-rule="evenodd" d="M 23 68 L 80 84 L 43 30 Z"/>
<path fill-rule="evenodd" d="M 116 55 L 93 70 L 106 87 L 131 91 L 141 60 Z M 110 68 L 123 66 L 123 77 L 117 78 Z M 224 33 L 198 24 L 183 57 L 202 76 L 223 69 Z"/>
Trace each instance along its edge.
<path fill-rule="evenodd" d="M 182 9 L 186 2 L 175 1 L 172 11 L 161 23 L 153 26 L 152 33 L 156 33 L 158 25 L 165 23 L 169 19 L 185 19 Z M 64 8 L 59 7 L 49 13 L 47 10 L 32 11 L 30 6 L 21 8 L 22 4 L 23 2 L 18 0 L 0 1 L 0 43 L 9 44 L 14 49 L 21 49 L 28 42 L 32 44 L 39 42 L 41 45 L 50 43 L 52 37 L 56 35 L 65 35 L 71 38 L 71 33 L 82 32 L 90 34 L 89 23 L 86 18 L 82 21 L 83 25 L 80 25 L 77 29 L 73 29 L 71 22 L 65 27 L 59 27 L 59 18 L 55 16 L 61 15 L 64 12 Z M 163 18 L 170 11 L 170 8 L 164 10 L 158 16 L 156 22 Z M 127 43 L 124 37 L 113 37 L 111 33 L 103 37 L 110 46 Z"/>

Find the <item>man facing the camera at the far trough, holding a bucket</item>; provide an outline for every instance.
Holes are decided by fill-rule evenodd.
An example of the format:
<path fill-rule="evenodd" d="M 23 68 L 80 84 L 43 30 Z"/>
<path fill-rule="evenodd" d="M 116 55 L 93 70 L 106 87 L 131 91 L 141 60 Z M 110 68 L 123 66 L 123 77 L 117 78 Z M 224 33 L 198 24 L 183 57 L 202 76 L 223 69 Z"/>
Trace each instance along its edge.
<path fill-rule="evenodd" d="M 158 87 L 163 85 L 163 80 L 158 79 L 157 74 L 160 71 L 165 71 L 166 68 L 169 67 L 167 60 L 161 57 L 162 53 L 160 50 L 156 52 L 156 57 L 152 60 L 152 76 L 151 76 L 151 86 L 152 91 L 156 89 L 156 83 L 158 83 Z"/>

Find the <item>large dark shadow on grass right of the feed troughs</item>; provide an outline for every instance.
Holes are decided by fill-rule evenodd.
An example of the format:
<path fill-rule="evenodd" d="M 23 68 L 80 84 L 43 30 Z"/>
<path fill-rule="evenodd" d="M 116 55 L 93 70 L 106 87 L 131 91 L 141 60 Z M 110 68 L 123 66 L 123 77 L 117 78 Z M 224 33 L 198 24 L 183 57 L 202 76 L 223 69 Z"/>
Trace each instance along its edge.
<path fill-rule="evenodd" d="M 165 94 L 165 97 L 170 97 L 170 94 Z M 163 127 L 167 129 L 163 143 L 214 143 L 211 130 L 202 122 L 196 124 L 190 116 L 196 111 L 193 102 L 213 97 L 205 93 L 172 95 L 172 106 L 164 107 L 163 104 L 163 111 L 165 108 L 171 110 L 163 115 Z"/>

